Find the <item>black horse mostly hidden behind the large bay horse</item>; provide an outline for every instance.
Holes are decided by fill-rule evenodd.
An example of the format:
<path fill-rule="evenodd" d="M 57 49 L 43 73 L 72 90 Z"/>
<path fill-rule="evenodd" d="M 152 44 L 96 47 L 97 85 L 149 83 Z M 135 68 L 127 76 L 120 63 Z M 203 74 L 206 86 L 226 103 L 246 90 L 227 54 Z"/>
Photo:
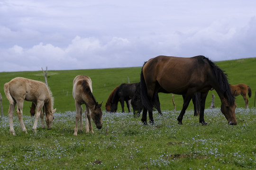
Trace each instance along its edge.
<path fill-rule="evenodd" d="M 163 88 L 158 90 L 158 93 L 168 93 L 165 91 Z M 163 115 L 161 108 L 160 108 L 160 101 L 158 97 L 158 93 L 155 93 L 155 109 L 158 111 L 159 115 Z M 183 96 L 183 100 L 185 99 L 185 95 Z M 200 115 L 200 93 L 195 93 L 192 97 L 192 102 L 194 104 L 194 116 Z M 139 117 L 140 112 L 143 110 L 143 105 L 141 101 L 141 96 L 140 96 L 140 82 L 136 87 L 136 91 L 134 93 L 134 96 L 131 99 L 131 105 L 133 108 L 133 115 L 134 117 Z"/>

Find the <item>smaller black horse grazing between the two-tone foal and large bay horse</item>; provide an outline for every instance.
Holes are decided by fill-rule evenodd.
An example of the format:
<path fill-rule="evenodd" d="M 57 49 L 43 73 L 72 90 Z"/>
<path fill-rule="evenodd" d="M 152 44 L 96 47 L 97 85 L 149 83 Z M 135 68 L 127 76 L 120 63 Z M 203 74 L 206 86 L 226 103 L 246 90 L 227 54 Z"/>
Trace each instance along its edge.
<path fill-rule="evenodd" d="M 111 112 L 116 112 L 118 108 L 118 102 L 120 100 L 122 112 L 124 112 L 124 101 L 127 104 L 128 111 L 131 112 L 128 101 L 131 100 L 133 97 L 136 85 L 138 83 L 126 84 L 123 83 L 119 85 L 118 89 L 113 95 L 112 102 L 111 102 Z"/>

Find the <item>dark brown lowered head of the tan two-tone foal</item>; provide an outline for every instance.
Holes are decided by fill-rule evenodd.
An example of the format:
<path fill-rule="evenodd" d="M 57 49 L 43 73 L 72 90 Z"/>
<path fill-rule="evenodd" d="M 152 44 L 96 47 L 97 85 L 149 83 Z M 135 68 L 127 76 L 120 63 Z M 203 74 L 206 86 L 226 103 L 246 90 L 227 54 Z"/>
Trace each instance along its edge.
<path fill-rule="evenodd" d="M 101 104 L 98 104 L 98 102 L 94 105 L 93 110 L 91 110 L 91 119 L 93 120 L 94 124 L 98 129 L 101 129 L 102 127 L 102 110 L 101 110 Z"/>

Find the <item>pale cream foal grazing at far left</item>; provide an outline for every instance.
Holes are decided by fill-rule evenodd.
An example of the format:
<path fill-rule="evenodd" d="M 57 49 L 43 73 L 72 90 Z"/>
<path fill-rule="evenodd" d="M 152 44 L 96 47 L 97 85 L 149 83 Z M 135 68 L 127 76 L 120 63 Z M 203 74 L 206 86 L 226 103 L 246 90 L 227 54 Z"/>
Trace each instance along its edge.
<path fill-rule="evenodd" d="M 46 110 L 46 125 L 47 128 L 50 129 L 52 127 L 52 122 L 54 119 L 53 110 L 53 102 L 54 99 L 52 97 L 52 93 L 50 89 L 46 86 L 46 84 L 36 81 L 30 80 L 23 77 L 16 77 L 6 83 L 4 85 L 4 92 L 6 94 L 7 99 L 10 102 L 9 106 L 9 123 L 10 123 L 10 132 L 15 135 L 13 128 L 13 114 L 14 109 L 17 103 L 17 115 L 19 119 L 19 123 L 21 125 L 22 131 L 27 133 L 27 129 L 24 125 L 22 119 L 22 110 L 23 110 L 23 102 L 24 100 L 34 102 L 37 105 L 37 113 L 35 118 L 35 123 L 33 126 L 33 130 L 37 132 L 37 121 L 39 119 L 41 110 L 45 107 Z"/>

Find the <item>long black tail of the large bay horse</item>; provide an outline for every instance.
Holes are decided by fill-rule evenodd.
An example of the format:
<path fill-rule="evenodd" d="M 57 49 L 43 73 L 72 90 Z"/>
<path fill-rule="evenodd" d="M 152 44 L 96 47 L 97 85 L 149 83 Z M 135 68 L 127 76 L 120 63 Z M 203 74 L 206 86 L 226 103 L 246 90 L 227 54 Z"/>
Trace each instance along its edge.
<path fill-rule="evenodd" d="M 144 65 L 146 64 L 146 62 L 144 63 Z M 144 67 L 143 65 L 143 67 Z M 144 75 L 143 75 L 143 67 L 141 68 L 141 73 L 140 73 L 140 95 L 141 95 L 141 101 L 144 107 L 146 107 L 146 109 L 148 111 L 153 111 L 153 105 L 152 103 L 149 101 L 148 96 L 147 96 L 147 88 L 146 88 L 146 82 L 144 79 Z"/>

